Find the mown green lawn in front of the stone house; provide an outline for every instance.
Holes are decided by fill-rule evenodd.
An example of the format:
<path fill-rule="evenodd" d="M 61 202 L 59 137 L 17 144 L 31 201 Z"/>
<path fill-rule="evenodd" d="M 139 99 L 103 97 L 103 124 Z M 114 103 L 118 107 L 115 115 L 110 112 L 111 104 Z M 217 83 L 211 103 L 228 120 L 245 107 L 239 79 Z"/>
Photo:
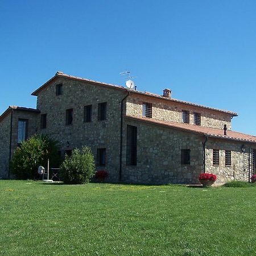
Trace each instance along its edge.
<path fill-rule="evenodd" d="M 0 180 L 0 255 L 256 255 L 256 187 Z"/>

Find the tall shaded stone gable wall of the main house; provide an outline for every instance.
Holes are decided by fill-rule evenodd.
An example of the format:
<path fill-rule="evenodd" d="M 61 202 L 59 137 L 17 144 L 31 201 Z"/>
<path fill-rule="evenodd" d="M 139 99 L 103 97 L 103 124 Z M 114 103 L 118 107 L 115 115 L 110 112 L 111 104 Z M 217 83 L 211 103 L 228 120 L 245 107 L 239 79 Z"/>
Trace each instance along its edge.
<path fill-rule="evenodd" d="M 56 96 L 60 83 L 63 94 Z M 97 166 L 97 170 L 108 171 L 108 181 L 118 181 L 121 101 L 125 96 L 121 90 L 60 78 L 38 95 L 37 108 L 47 114 L 47 127 L 39 129 L 40 133 L 58 141 L 62 155 L 76 147 L 90 146 L 96 160 L 97 148 L 106 148 L 106 165 Z M 107 102 L 106 120 L 99 121 L 98 104 L 102 102 Z M 92 105 L 92 121 L 84 122 L 84 106 L 88 105 Z M 72 125 L 65 123 L 67 109 L 73 109 Z"/>

